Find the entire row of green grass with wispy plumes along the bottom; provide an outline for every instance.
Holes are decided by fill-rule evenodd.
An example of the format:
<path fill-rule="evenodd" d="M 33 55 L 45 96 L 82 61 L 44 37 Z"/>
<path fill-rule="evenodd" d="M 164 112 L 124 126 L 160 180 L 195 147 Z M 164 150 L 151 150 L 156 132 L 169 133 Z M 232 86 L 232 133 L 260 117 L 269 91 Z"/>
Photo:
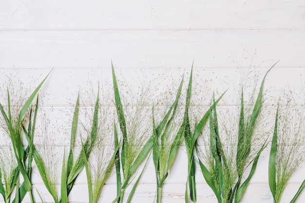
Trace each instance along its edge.
<path fill-rule="evenodd" d="M 272 67 L 267 73 L 270 72 Z M 151 131 L 142 130 L 143 134 L 141 134 L 140 132 L 142 131 L 137 129 L 142 128 L 141 124 L 136 123 L 138 120 L 135 120 L 135 122 L 128 120 L 131 117 L 126 115 L 126 104 L 122 102 L 124 100 L 122 100 L 122 94 L 112 66 L 114 105 L 116 108 L 116 119 L 110 122 L 112 130 L 104 127 L 107 123 L 107 117 L 103 117 L 104 111 L 102 111 L 102 106 L 100 105 L 101 96 L 99 93 L 97 93 L 91 116 L 85 118 L 89 120 L 90 125 L 86 126 L 79 121 L 80 97 L 78 95 L 71 122 L 70 146 L 64 150 L 61 171 L 58 171 L 58 173 L 60 172 L 60 194 L 57 194 L 56 183 L 49 173 L 47 163 L 45 163 L 43 156 L 34 144 L 39 111 L 39 96 L 37 94 L 50 73 L 41 81 L 19 109 L 15 108 L 16 104 L 11 103 L 10 90 L 7 89 L 7 103 L 0 104 L 2 119 L 5 123 L 2 128 L 10 137 L 11 148 L 17 164 L 10 171 L 5 171 L 5 168 L 8 167 L 0 167 L 0 176 L 3 183 L 2 185 L 0 184 L 0 193 L 4 202 L 21 203 L 26 193 L 29 193 L 31 203 L 36 202 L 32 186 L 32 167 L 33 161 L 35 161 L 42 181 L 55 203 L 68 203 L 68 196 L 83 168 L 85 168 L 88 181 L 88 202 L 96 203 L 102 186 L 112 173 L 113 166 L 115 167 L 117 183 L 117 197 L 114 198 L 113 203 L 123 203 L 123 199 L 124 202 L 130 203 L 145 166 L 152 155 L 156 178 L 156 202 L 161 203 L 163 184 L 169 175 L 169 170 L 184 139 L 188 158 L 185 202 L 197 202 L 195 173 L 196 167 L 199 166 L 218 203 L 239 203 L 242 201 L 256 170 L 262 151 L 269 144 L 268 139 L 264 136 L 261 136 L 263 141 L 257 142 L 255 140 L 257 138 L 255 137 L 257 136 L 256 133 L 259 131 L 257 129 L 260 128 L 258 125 L 259 119 L 262 119 L 263 87 L 267 73 L 261 82 L 258 93 L 254 95 L 255 99 L 251 101 L 252 103 L 244 101 L 244 89 L 242 88 L 240 111 L 236 116 L 238 125 L 236 126 L 235 134 L 224 134 L 224 130 L 220 125 L 223 116 L 226 115 L 219 116 L 217 104 L 226 92 L 223 92 L 219 98 L 215 98 L 214 95 L 211 96 L 210 107 L 202 115 L 199 115 L 196 120 L 193 119 L 190 113 L 192 108 L 190 105 L 192 70 L 185 94 L 183 92 L 184 78 L 182 78 L 176 93 L 173 95 L 172 104 L 167 106 L 165 111 L 160 111 L 158 103 L 152 104 L 151 124 L 150 127 L 146 127 Z M 185 95 L 185 102 L 180 101 L 182 99 L 181 95 Z M 140 107 L 145 104 L 137 103 L 137 105 L 139 108 L 136 108 L 133 114 L 135 118 L 141 116 Z M 278 111 L 274 116 L 275 126 L 271 141 L 268 170 L 269 186 L 274 203 L 280 203 L 289 178 L 300 166 L 300 164 L 297 165 L 298 167 L 294 165 L 294 170 L 289 171 L 289 165 L 281 165 L 282 163 L 287 163 L 285 161 L 282 162 L 287 157 L 281 152 L 285 148 L 278 148 L 280 145 L 278 137 L 285 137 L 285 133 L 288 132 L 284 130 L 284 127 L 281 130 L 278 129 L 281 127 L 278 120 L 285 120 L 284 115 L 287 114 L 283 110 L 281 111 L 281 116 L 279 116 L 279 111 L 281 111 L 281 105 L 278 105 Z M 303 121 L 300 119 L 299 122 Z M 296 131 L 289 132 L 295 133 L 292 136 L 300 137 L 300 134 L 305 129 L 301 129 L 303 127 L 301 124 L 296 124 L 296 126 L 299 127 Z M 81 139 L 81 149 L 77 151 L 76 137 L 80 128 L 83 129 L 86 135 L 84 136 L 85 138 Z M 143 137 L 144 134 L 146 134 L 147 139 L 143 139 L 145 143 L 140 143 L 139 145 L 138 139 Z M 27 143 L 23 143 L 23 135 Z M 234 136 L 236 137 L 235 140 L 232 138 Z M 198 144 L 200 139 L 205 141 L 205 145 Z M 231 144 L 233 145 L 227 145 L 226 139 L 232 141 Z M 111 143 L 106 143 L 107 140 L 111 140 Z M 286 145 L 289 146 L 289 143 Z M 106 146 L 110 146 L 109 149 L 106 149 Z M 203 146 L 208 147 L 203 148 Z M 281 146 L 285 147 L 285 144 Z M 294 149 L 296 148 L 297 146 L 294 147 Z M 67 153 L 66 150 L 68 151 Z M 298 154 L 291 153 L 288 155 L 297 156 Z M 97 159 L 94 159 L 94 157 Z M 91 162 L 94 162 L 94 164 L 91 164 Z M 142 163 L 145 164 L 143 168 L 139 169 Z M 94 165 L 98 166 L 95 168 L 96 170 L 94 170 Z M 249 170 L 247 170 L 248 168 Z M 135 173 L 137 170 L 141 171 L 138 175 Z M 245 174 L 246 171 L 249 172 Z M 23 180 L 21 184 L 19 184 L 20 175 Z M 135 182 L 132 184 L 133 180 Z M 128 197 L 124 197 L 125 190 L 128 187 L 131 187 L 131 190 Z M 297 200 L 304 187 L 305 181 L 291 200 L 291 203 Z M 16 192 L 12 194 L 14 188 L 16 188 Z M 40 200 L 38 202 L 43 202 L 43 198 L 39 197 Z"/>

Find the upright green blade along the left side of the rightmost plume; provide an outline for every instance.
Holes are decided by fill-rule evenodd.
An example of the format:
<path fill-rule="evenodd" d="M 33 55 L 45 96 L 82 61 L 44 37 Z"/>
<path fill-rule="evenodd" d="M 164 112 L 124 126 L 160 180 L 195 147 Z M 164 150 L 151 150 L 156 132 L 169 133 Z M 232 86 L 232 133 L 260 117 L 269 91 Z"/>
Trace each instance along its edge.
<path fill-rule="evenodd" d="M 273 198 L 275 198 L 276 193 L 276 151 L 277 151 L 277 125 L 278 125 L 278 111 L 276 112 L 274 132 L 271 142 L 271 149 L 269 155 L 269 165 L 268 165 L 268 180 L 269 188 L 272 193 Z"/>

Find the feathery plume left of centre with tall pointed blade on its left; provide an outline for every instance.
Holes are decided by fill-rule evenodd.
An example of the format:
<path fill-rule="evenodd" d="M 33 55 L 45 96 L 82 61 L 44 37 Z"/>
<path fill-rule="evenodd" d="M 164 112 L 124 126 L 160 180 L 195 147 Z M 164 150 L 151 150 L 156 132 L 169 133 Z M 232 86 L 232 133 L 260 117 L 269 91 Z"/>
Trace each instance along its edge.
<path fill-rule="evenodd" d="M 141 85 L 133 88 L 129 86 L 130 83 L 117 83 L 113 65 L 112 74 L 114 102 L 122 134 L 122 147 L 120 151 L 116 153 L 115 158 L 117 197 L 114 199 L 113 203 L 122 203 L 124 191 L 130 184 L 133 174 L 152 149 L 152 112 L 151 108 L 148 106 L 152 106 L 152 101 L 160 94 L 155 93 L 158 91 L 158 88 L 153 89 L 154 85 L 151 84 L 151 82 L 155 81 L 150 81 L 145 74 L 141 75 L 144 80 L 141 82 Z M 147 82 L 149 82 L 149 84 L 147 84 Z M 137 85 L 137 83 L 135 83 L 135 85 Z M 134 91 L 132 90 L 137 90 L 137 92 L 133 93 Z M 115 143 L 117 147 L 119 143 L 117 139 Z M 135 187 L 139 182 L 144 169 L 145 167 L 143 167 L 142 172 L 136 179 L 127 202 L 131 201 Z M 123 175 L 122 178 L 121 171 Z"/>

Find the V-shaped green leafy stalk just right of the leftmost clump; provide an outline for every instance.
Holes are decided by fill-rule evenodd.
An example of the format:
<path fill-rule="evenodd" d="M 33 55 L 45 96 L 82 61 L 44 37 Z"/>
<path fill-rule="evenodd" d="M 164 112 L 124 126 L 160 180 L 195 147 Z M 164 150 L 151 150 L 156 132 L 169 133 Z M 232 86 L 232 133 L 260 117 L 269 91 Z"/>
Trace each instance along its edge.
<path fill-rule="evenodd" d="M 58 198 L 57 190 L 55 188 L 54 177 L 52 177 L 52 172 L 50 173 L 50 168 L 46 160 L 43 160 L 41 152 L 39 153 L 38 147 L 35 146 L 33 150 L 33 157 L 35 163 L 38 167 L 38 171 L 42 178 L 42 181 L 55 203 L 66 203 L 68 201 L 68 195 L 70 194 L 73 186 L 75 185 L 76 178 L 82 168 L 85 166 L 85 160 L 89 158 L 92 148 L 95 144 L 96 134 L 97 134 L 97 122 L 98 122 L 98 96 L 95 102 L 93 123 L 90 134 L 85 139 L 83 144 L 83 150 L 76 156 L 75 155 L 75 140 L 77 134 L 77 124 L 78 124 L 78 113 L 79 113 L 79 95 L 76 99 L 74 115 L 71 123 L 71 137 L 70 137 L 70 147 L 68 153 L 68 159 L 66 161 L 66 153 L 64 150 L 62 165 L 61 165 L 61 181 L 60 181 L 60 197 Z M 38 109 L 36 109 L 37 111 Z M 87 118 L 88 119 L 88 118 Z M 36 119 L 33 120 L 33 126 L 35 126 Z M 42 130 L 43 132 L 43 130 Z M 50 134 L 44 134 L 42 136 L 49 136 Z M 57 136 L 57 135 L 56 135 Z M 34 146 L 33 142 L 29 142 Z"/>

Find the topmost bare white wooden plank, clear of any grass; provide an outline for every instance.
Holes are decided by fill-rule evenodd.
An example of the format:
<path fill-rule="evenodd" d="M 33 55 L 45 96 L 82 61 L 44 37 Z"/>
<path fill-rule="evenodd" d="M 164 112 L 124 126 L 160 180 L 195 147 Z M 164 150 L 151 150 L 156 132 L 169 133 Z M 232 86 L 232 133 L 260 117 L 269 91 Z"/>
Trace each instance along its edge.
<path fill-rule="evenodd" d="M 0 1 L 1 30 L 304 29 L 303 0 Z"/>

